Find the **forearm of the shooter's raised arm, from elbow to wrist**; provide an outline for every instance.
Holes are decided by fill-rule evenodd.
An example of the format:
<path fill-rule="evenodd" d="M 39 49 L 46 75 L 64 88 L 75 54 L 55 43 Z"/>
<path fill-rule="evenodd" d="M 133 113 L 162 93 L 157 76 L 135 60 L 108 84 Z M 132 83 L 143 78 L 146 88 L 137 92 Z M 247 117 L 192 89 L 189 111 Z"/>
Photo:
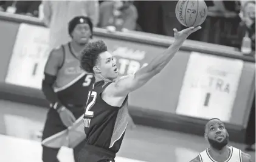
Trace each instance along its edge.
<path fill-rule="evenodd" d="M 183 42 L 184 41 L 176 40 L 170 47 L 167 48 L 167 50 L 164 51 L 164 53 L 159 54 L 148 64 L 148 69 L 150 71 L 156 71 L 156 73 L 159 73 L 168 64 L 168 62 L 170 62 L 173 56 L 175 56 L 179 48 L 181 48 Z"/>

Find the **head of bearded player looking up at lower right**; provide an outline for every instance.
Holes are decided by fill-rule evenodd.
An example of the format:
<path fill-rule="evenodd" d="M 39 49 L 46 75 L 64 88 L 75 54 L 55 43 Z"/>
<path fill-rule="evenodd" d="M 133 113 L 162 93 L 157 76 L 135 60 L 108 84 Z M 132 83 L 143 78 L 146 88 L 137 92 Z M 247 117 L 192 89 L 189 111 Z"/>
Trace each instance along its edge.
<path fill-rule="evenodd" d="M 222 149 L 229 142 L 229 135 L 224 123 L 217 119 L 207 123 L 205 135 L 210 145 L 218 150 Z"/>

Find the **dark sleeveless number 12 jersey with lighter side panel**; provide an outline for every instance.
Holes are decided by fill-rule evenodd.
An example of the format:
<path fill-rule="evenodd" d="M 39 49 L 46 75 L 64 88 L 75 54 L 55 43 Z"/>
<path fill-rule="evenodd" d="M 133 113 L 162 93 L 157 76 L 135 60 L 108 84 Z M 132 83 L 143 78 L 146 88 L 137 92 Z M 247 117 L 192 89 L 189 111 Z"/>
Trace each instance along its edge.
<path fill-rule="evenodd" d="M 128 124 L 128 96 L 122 106 L 106 103 L 101 94 L 112 82 L 101 80 L 92 85 L 84 115 L 86 143 L 116 154 Z"/>

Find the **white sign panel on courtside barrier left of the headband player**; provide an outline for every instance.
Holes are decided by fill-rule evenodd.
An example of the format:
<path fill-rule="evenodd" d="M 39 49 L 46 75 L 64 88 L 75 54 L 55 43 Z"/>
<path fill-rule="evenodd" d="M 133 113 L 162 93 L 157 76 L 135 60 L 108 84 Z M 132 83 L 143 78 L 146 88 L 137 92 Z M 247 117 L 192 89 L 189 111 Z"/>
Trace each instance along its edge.
<path fill-rule="evenodd" d="M 41 89 L 44 66 L 49 56 L 48 37 L 47 28 L 19 25 L 6 83 Z"/>

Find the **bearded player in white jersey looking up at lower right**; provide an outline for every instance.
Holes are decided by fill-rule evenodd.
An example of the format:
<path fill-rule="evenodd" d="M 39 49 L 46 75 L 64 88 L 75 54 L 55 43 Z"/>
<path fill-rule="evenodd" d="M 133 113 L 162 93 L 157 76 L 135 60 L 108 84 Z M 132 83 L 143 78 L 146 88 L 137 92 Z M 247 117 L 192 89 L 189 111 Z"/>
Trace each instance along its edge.
<path fill-rule="evenodd" d="M 209 141 L 210 147 L 190 162 L 252 162 L 251 155 L 227 145 L 229 134 L 220 119 L 210 119 L 206 123 L 204 131 L 204 137 Z"/>

